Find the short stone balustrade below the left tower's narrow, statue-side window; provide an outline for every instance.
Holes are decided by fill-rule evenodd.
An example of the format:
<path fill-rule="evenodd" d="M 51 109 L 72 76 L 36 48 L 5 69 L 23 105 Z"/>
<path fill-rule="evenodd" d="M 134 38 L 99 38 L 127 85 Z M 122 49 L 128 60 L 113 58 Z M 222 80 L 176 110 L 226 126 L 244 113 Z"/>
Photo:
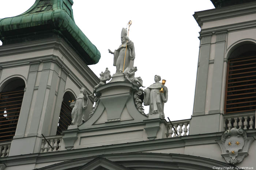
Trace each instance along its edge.
<path fill-rule="evenodd" d="M 47 141 L 50 143 L 50 145 L 53 147 L 50 147 L 48 142 L 44 138 L 42 138 L 42 144 L 41 144 L 41 153 L 45 152 L 54 152 L 60 150 L 61 147 L 61 141 L 62 141 L 62 136 L 50 136 L 50 137 L 45 137 Z"/>

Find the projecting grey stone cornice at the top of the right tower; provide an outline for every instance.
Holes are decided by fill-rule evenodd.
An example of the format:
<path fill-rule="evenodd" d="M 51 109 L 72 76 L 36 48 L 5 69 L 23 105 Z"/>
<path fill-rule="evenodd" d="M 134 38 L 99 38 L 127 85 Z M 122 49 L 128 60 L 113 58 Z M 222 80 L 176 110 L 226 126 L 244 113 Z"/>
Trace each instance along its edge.
<path fill-rule="evenodd" d="M 204 22 L 221 20 L 236 16 L 249 15 L 256 12 L 256 2 L 233 5 L 230 7 L 209 9 L 195 12 L 193 15 L 198 25 L 202 27 Z"/>

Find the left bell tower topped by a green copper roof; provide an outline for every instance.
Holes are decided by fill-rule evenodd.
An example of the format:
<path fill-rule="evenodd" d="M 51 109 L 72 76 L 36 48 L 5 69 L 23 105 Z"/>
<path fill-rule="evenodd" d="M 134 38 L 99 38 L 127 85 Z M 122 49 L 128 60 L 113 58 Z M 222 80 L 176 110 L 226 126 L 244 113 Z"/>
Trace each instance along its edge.
<path fill-rule="evenodd" d="M 68 101 L 81 87 L 92 94 L 99 82 L 88 65 L 100 53 L 75 24 L 72 4 L 36 0 L 21 15 L 0 19 L 0 141 L 12 140 L 9 156 L 38 153 L 42 134 L 70 125 Z"/>

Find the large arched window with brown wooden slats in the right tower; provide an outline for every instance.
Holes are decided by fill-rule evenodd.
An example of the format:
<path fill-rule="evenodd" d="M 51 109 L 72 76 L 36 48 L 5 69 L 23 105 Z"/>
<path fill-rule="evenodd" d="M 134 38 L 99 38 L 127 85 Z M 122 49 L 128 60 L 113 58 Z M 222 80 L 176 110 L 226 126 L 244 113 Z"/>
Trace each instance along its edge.
<path fill-rule="evenodd" d="M 227 64 L 225 114 L 256 109 L 256 45 L 244 44 L 231 53 Z"/>

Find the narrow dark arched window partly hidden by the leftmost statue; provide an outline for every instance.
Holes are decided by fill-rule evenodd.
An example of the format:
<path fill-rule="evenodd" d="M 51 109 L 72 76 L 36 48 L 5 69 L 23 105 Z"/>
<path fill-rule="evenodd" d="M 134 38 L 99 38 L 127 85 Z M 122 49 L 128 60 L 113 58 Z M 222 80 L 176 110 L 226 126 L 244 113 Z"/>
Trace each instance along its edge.
<path fill-rule="evenodd" d="M 67 130 L 68 126 L 71 125 L 71 112 L 72 108 L 69 106 L 71 102 L 75 100 L 75 96 L 67 91 L 63 96 L 63 101 L 61 103 L 60 117 L 57 127 L 56 135 L 60 135 L 62 130 Z"/>

